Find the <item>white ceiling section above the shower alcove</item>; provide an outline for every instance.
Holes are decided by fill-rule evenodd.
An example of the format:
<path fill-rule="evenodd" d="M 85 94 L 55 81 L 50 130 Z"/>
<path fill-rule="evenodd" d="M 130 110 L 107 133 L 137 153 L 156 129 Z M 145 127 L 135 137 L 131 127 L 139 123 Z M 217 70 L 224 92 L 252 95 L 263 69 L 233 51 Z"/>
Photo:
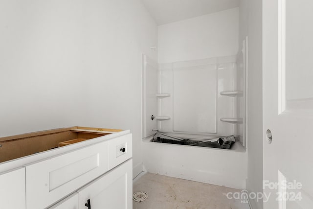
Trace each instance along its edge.
<path fill-rule="evenodd" d="M 239 6 L 239 0 L 141 0 L 158 25 Z"/>

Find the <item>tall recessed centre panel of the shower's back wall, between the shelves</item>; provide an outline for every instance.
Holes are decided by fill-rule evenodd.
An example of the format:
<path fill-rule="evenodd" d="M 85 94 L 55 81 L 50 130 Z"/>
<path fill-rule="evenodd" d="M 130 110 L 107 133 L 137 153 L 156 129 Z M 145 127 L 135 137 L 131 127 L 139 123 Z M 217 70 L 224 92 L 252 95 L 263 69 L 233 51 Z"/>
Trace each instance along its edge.
<path fill-rule="evenodd" d="M 217 132 L 216 67 L 173 69 L 173 131 Z"/>

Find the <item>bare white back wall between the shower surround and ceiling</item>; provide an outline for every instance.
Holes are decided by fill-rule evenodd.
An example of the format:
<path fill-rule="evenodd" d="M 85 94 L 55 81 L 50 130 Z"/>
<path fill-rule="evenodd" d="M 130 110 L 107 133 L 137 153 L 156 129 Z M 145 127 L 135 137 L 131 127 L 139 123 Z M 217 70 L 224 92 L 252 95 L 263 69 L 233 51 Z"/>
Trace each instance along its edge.
<path fill-rule="evenodd" d="M 158 26 L 158 62 L 235 55 L 238 8 Z"/>

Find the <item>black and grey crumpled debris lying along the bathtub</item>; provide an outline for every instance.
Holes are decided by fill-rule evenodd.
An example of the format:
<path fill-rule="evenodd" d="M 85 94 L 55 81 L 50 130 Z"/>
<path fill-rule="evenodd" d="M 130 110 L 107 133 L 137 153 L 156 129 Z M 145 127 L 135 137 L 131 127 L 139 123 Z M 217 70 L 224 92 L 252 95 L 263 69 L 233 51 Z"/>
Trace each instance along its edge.
<path fill-rule="evenodd" d="M 170 143 L 170 144 L 180 144 L 189 146 L 200 146 L 200 147 L 212 147 L 220 149 L 230 149 L 232 144 L 236 142 L 235 137 L 220 137 L 213 139 L 183 139 L 179 137 L 170 136 L 168 134 L 161 133 L 159 131 L 154 135 L 153 142 L 159 143 Z"/>

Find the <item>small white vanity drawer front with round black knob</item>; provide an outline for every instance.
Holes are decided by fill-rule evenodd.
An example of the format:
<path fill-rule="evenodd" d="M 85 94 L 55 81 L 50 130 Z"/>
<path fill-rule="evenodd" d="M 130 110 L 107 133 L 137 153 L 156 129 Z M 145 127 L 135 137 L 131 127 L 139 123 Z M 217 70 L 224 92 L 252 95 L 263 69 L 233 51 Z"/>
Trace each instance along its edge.
<path fill-rule="evenodd" d="M 133 156 L 132 134 L 109 141 L 109 169 L 127 161 Z"/>

